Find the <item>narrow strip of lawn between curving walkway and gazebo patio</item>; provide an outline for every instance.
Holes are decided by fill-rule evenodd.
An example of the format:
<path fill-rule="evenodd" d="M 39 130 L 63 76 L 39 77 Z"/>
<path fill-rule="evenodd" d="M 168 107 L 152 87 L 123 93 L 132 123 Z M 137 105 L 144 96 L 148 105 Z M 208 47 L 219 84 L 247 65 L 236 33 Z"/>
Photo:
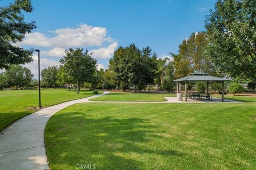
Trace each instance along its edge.
<path fill-rule="evenodd" d="M 110 92 L 110 94 L 90 99 L 92 101 L 166 101 L 164 97 L 175 97 L 176 94 L 143 94 L 127 92 Z"/>

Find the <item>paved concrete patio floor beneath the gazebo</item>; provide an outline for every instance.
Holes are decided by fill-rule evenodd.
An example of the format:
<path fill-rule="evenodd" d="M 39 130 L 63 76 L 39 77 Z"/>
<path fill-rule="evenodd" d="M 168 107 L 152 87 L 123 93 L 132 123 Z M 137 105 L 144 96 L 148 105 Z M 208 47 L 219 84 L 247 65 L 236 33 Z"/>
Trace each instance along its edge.
<path fill-rule="evenodd" d="M 228 100 L 224 99 L 224 101 L 221 101 L 221 98 L 213 97 L 211 100 L 205 100 L 205 99 L 190 99 L 188 98 L 188 101 L 185 101 L 185 97 L 183 97 L 182 100 L 177 100 L 176 97 L 165 97 L 167 99 L 167 103 L 243 103 L 241 101 L 235 101 L 235 100 Z M 166 102 L 166 101 L 165 101 Z"/>

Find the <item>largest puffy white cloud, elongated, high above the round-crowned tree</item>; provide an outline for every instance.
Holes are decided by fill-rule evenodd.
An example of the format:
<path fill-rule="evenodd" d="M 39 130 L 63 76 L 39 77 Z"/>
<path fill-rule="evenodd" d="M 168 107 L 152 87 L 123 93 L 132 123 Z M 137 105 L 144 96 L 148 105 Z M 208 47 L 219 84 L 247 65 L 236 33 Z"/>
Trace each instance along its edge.
<path fill-rule="evenodd" d="M 41 32 L 28 33 L 25 39 L 17 45 L 70 48 L 101 46 L 102 43 L 114 41 L 107 37 L 106 28 L 87 24 L 80 24 L 77 28 L 61 28 L 50 32 L 55 36 L 48 37 Z"/>

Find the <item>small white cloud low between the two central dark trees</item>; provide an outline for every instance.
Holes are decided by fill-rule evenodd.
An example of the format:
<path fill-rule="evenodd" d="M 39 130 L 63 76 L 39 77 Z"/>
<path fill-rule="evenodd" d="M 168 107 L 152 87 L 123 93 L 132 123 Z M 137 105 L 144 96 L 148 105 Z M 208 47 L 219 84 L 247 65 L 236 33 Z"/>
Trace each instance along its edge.
<path fill-rule="evenodd" d="M 108 47 L 101 47 L 99 49 L 91 50 L 90 53 L 93 52 L 92 56 L 94 58 L 110 58 L 113 56 L 116 47 L 117 43 L 115 42 L 110 44 Z"/>

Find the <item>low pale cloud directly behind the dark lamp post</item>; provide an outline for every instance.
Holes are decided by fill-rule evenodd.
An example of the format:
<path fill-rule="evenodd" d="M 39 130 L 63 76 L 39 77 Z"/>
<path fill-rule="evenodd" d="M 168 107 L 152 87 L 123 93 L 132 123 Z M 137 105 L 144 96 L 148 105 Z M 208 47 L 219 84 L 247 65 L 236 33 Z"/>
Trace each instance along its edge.
<path fill-rule="evenodd" d="M 33 62 L 27 63 L 24 66 L 30 69 L 31 73 L 34 74 L 34 78 L 38 79 L 38 57 L 33 55 Z M 40 58 L 40 70 L 42 71 L 46 67 L 60 65 L 59 61 L 51 60 L 48 58 Z"/>

